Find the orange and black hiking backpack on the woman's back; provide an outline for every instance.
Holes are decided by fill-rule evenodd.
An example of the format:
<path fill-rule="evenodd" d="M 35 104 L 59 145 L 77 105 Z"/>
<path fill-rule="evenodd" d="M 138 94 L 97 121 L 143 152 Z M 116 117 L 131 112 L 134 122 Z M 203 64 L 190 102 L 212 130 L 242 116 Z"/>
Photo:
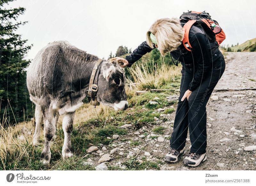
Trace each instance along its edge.
<path fill-rule="evenodd" d="M 182 41 L 184 47 L 191 51 L 192 47 L 189 43 L 188 34 L 192 25 L 199 26 L 204 30 L 207 38 L 210 43 L 215 43 L 217 46 L 220 46 L 220 43 L 226 39 L 224 31 L 220 28 L 217 21 L 212 20 L 209 13 L 188 11 L 183 12 L 180 16 L 180 22 L 185 23 L 183 26 L 185 30 L 184 39 Z"/>

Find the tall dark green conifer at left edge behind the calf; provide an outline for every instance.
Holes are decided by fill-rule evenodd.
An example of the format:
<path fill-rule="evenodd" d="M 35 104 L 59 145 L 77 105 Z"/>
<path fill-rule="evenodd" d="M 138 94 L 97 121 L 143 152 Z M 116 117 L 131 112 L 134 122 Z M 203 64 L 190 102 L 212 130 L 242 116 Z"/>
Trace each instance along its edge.
<path fill-rule="evenodd" d="M 25 8 L 6 9 L 13 0 L 0 1 L 0 123 L 12 124 L 23 121 L 23 115 L 32 111 L 26 86 L 26 67 L 30 63 L 23 57 L 31 46 L 15 31 L 26 22 L 17 22 Z M 25 113 L 24 113 L 25 111 Z"/>

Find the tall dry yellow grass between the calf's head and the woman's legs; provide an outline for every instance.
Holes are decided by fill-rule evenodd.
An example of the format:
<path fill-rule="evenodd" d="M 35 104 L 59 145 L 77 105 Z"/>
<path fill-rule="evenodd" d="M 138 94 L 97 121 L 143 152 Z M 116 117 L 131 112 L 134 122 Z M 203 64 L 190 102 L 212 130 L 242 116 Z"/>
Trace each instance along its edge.
<path fill-rule="evenodd" d="M 175 76 L 180 75 L 181 65 L 167 65 L 165 63 L 147 65 L 147 63 L 138 62 L 129 72 L 134 81 L 127 79 L 127 83 L 135 85 L 137 90 L 163 88 L 173 82 Z"/>

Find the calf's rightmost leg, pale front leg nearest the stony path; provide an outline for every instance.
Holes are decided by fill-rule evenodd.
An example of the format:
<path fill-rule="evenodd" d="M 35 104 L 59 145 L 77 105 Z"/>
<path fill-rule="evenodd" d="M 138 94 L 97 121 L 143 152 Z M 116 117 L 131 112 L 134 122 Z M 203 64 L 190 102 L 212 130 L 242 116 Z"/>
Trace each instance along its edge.
<path fill-rule="evenodd" d="M 64 131 L 64 144 L 62 147 L 63 159 L 73 156 L 72 146 L 71 146 L 71 132 L 73 130 L 75 112 L 66 113 L 62 121 L 62 129 Z"/>

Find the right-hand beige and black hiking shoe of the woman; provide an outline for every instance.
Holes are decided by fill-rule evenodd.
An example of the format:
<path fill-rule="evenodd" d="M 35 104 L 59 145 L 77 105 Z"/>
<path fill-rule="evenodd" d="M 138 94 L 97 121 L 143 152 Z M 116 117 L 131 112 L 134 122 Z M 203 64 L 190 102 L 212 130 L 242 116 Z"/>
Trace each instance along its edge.
<path fill-rule="evenodd" d="M 184 159 L 183 163 L 187 166 L 190 167 L 196 167 L 198 166 L 201 162 L 206 160 L 206 153 L 204 154 L 198 154 L 198 153 L 193 153 L 190 152 L 186 158 Z"/>

